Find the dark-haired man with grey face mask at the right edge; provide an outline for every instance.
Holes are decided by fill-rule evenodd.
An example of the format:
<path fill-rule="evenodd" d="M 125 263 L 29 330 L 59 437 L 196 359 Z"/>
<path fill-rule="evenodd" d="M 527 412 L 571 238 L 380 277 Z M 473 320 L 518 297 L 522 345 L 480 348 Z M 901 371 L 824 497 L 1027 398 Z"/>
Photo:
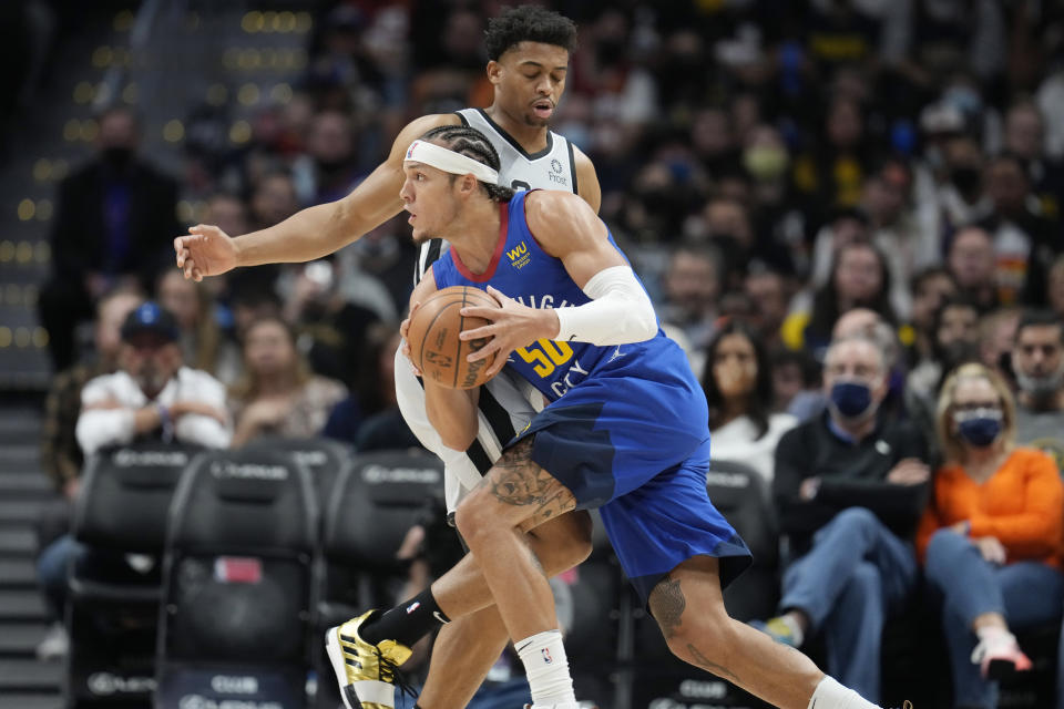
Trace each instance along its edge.
<path fill-rule="evenodd" d="M 1050 311 L 1025 312 L 1012 348 L 1016 378 L 1016 441 L 1064 466 L 1064 321 Z"/>

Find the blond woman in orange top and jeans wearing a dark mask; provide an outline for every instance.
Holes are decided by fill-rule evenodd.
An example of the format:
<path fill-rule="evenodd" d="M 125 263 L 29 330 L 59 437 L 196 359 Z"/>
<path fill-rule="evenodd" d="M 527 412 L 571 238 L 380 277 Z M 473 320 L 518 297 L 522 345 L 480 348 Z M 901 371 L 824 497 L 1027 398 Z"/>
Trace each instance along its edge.
<path fill-rule="evenodd" d="M 995 707 L 995 680 L 1031 668 L 1012 628 L 1061 615 L 1064 483 L 1047 455 L 1014 446 L 1015 420 L 1012 393 L 982 364 L 942 386 L 944 463 L 917 546 L 942 599 L 956 707 Z"/>

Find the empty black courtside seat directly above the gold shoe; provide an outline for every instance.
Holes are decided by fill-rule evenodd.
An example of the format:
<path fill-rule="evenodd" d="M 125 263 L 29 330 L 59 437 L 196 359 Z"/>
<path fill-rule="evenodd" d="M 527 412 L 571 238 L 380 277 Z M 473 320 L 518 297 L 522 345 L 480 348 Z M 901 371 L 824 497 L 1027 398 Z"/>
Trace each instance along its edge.
<path fill-rule="evenodd" d="M 325 510 L 325 576 L 318 625 L 326 628 L 367 608 L 390 607 L 406 579 L 396 552 L 407 531 L 442 510 L 443 463 L 426 451 L 357 455 L 336 480 Z M 436 534 L 447 534 L 442 530 Z M 318 636 L 320 637 L 320 635 Z M 316 706 L 339 702 L 332 669 L 319 644 Z"/>

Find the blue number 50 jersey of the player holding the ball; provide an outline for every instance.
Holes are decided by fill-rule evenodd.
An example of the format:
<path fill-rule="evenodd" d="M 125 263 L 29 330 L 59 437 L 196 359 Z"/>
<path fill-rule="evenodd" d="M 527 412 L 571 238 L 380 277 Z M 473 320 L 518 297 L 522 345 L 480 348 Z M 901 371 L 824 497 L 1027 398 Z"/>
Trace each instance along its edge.
<path fill-rule="evenodd" d="M 451 249 L 433 264 L 438 288 L 472 286 L 484 289 L 490 284 L 530 308 L 580 306 L 591 300 L 570 277 L 562 261 L 544 253 L 529 232 L 524 218 L 524 198 L 528 195 L 528 192 L 519 192 L 509 205 L 503 205 L 504 234 L 500 234 L 488 270 L 481 275 L 470 273 Z M 610 243 L 616 248 L 612 235 Z M 700 393 L 683 350 L 665 337 L 661 328 L 649 340 L 620 347 L 539 340 L 515 350 L 509 366 L 549 401 L 560 399 L 606 366 L 623 369 L 627 374 L 643 370 L 643 374 L 652 379 L 669 376 L 686 378 L 689 386 Z"/>

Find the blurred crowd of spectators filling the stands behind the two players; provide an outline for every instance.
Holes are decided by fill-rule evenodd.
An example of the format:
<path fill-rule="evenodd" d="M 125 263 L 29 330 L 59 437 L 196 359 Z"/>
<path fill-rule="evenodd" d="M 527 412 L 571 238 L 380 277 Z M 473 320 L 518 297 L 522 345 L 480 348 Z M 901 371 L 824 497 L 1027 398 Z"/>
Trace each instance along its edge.
<path fill-rule="evenodd" d="M 592 158 L 601 216 L 702 378 L 714 456 L 757 470 L 791 537 L 767 630 L 822 630 L 828 669 L 876 700 L 868 639 L 925 562 L 968 614 L 943 621 L 954 680 L 992 706 L 983 660 L 1025 659 L 1017 588 L 1052 599 L 1020 625 L 1064 600 L 1064 8 L 548 4 L 580 28 L 553 130 Z M 174 206 L 238 235 L 347 194 L 409 120 L 490 103 L 500 7 L 323 9 L 294 95 L 257 111 L 248 143 L 219 140 L 224 107 L 190 107 L 176 177 L 137 153 L 135 114 L 100 116 L 99 154 L 59 189 L 40 298 L 60 372 L 44 460 L 68 496 L 100 421 L 106 442 L 417 444 L 391 372 L 415 260 L 401 219 L 319 261 L 196 284 L 173 268 Z M 978 585 L 958 578 L 998 590 L 958 599 Z"/>

